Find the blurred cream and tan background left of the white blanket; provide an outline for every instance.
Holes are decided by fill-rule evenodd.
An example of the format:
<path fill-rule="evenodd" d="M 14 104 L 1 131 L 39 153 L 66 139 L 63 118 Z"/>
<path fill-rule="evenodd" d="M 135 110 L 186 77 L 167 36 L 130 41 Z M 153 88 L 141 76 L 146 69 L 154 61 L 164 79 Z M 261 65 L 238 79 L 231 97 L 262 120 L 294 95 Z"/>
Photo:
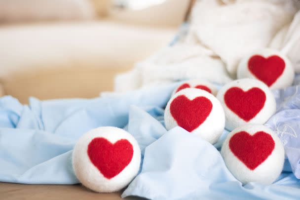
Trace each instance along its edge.
<path fill-rule="evenodd" d="M 113 90 L 175 36 L 192 0 L 0 0 L 0 96 L 22 103 Z"/>

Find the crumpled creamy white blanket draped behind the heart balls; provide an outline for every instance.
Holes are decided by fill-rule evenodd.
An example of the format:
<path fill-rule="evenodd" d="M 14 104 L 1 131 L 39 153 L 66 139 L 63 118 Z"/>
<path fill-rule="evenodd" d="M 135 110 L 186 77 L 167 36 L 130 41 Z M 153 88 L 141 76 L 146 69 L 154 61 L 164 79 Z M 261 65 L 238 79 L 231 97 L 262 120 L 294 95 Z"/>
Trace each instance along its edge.
<path fill-rule="evenodd" d="M 297 63 L 296 4 L 295 0 L 198 0 L 185 37 L 117 76 L 115 90 L 195 78 L 226 83 L 235 78 L 244 55 L 276 43 L 275 38 L 276 48 Z M 277 37 L 278 32 L 282 34 Z"/>

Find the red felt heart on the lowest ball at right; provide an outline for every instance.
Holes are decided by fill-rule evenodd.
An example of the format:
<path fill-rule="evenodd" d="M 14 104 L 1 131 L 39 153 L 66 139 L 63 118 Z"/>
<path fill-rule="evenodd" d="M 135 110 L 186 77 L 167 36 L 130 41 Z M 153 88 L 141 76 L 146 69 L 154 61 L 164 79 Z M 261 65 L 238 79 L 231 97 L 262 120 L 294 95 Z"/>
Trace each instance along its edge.
<path fill-rule="evenodd" d="M 229 148 L 234 156 L 249 169 L 254 170 L 271 155 L 275 142 L 263 131 L 256 132 L 254 135 L 241 131 L 230 138 Z"/>

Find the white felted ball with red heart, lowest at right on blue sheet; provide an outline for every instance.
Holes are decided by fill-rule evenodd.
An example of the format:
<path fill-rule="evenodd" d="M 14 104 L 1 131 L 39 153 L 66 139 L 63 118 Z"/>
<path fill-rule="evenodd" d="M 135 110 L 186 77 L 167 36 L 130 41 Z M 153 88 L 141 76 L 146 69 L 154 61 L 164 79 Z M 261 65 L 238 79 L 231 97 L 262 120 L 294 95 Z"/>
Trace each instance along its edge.
<path fill-rule="evenodd" d="M 225 139 L 221 154 L 229 171 L 243 184 L 271 184 L 283 169 L 283 145 L 263 125 L 247 124 L 234 129 Z"/>

